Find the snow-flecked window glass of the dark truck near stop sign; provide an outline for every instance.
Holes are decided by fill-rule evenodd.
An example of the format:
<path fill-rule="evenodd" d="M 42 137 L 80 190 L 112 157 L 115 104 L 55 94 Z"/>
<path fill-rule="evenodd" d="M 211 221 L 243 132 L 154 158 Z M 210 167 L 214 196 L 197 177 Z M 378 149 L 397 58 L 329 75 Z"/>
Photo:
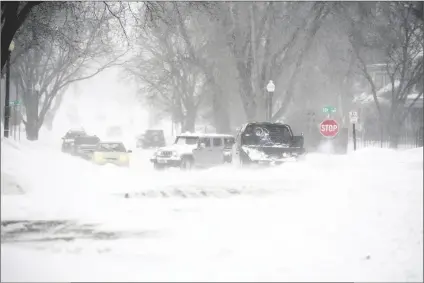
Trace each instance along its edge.
<path fill-rule="evenodd" d="M 243 145 L 274 146 L 290 143 L 292 133 L 285 125 L 248 125 L 242 132 Z"/>

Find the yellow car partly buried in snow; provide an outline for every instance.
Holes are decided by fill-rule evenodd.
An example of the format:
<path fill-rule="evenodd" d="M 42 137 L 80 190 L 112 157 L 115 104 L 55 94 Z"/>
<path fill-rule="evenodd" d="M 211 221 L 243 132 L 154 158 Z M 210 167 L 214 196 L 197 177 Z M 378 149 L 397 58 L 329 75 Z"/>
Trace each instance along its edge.
<path fill-rule="evenodd" d="M 122 142 L 100 142 L 93 152 L 92 160 L 99 165 L 112 163 L 118 166 L 130 165 L 131 150 L 126 150 Z"/>

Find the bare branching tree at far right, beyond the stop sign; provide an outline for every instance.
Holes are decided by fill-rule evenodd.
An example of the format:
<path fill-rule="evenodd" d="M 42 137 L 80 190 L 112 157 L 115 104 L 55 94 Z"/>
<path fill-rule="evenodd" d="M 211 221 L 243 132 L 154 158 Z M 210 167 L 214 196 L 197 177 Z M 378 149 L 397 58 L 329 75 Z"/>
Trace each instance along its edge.
<path fill-rule="evenodd" d="M 358 67 L 371 87 L 380 120 L 381 139 L 386 130 L 391 147 L 397 147 L 402 124 L 423 95 L 422 89 L 415 96 L 412 94 L 413 88 L 422 82 L 424 76 L 423 21 L 414 16 L 414 4 L 409 2 L 379 3 L 374 9 L 367 11 L 366 14 L 361 13 L 357 21 L 350 17 L 350 41 L 358 59 Z M 372 31 L 364 30 L 361 23 L 370 21 L 375 28 Z M 364 36 L 364 33 L 368 35 Z M 388 101 L 379 97 L 379 93 L 387 91 L 377 88 L 367 64 L 366 54 L 375 49 L 382 50 L 380 63 L 385 65 L 390 79 L 388 92 L 391 95 Z M 405 107 L 407 100 L 412 102 Z M 384 104 L 388 104 L 389 109 Z"/>

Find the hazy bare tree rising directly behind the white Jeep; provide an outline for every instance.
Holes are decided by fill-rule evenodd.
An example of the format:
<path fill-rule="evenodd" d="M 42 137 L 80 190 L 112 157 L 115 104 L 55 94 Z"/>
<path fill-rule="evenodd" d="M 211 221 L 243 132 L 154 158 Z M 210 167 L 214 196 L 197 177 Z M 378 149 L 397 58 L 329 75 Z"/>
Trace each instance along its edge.
<path fill-rule="evenodd" d="M 140 52 L 127 70 L 144 84 L 142 95 L 168 112 L 183 131 L 194 131 L 204 76 L 184 59 L 188 52 L 180 34 L 161 22 L 140 30 L 138 42 Z"/>

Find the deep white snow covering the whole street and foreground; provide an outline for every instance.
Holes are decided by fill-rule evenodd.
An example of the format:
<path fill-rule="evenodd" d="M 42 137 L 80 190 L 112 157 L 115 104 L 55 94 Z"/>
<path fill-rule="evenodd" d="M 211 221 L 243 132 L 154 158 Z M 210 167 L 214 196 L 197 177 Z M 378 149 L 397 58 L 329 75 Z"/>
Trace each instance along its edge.
<path fill-rule="evenodd" d="M 193 172 L 1 149 L 2 281 L 423 280 L 422 148 Z"/>

